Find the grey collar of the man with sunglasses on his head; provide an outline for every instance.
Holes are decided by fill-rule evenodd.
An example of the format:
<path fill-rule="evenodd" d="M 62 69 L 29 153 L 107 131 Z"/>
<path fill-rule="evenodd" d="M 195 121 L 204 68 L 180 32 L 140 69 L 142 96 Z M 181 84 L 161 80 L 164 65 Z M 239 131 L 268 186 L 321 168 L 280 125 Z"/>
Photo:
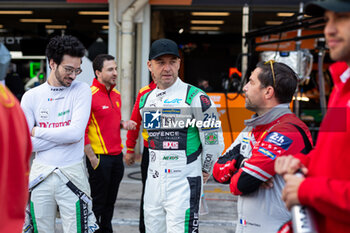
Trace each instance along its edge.
<path fill-rule="evenodd" d="M 289 109 L 289 104 L 279 104 L 272 108 L 270 111 L 264 113 L 261 116 L 254 114 L 251 119 L 245 120 L 244 124 L 246 126 L 255 127 L 257 125 L 269 124 L 277 118 L 285 115 L 291 114 L 292 112 Z"/>

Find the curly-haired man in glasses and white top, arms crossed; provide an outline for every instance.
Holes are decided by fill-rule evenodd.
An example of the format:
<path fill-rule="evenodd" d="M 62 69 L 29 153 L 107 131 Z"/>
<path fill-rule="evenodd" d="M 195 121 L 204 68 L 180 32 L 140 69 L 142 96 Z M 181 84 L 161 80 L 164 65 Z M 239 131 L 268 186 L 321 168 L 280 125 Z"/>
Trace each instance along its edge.
<path fill-rule="evenodd" d="M 46 48 L 51 69 L 47 82 L 22 98 L 36 152 L 29 177 L 30 186 L 38 183 L 31 190 L 30 199 L 34 232 L 55 232 L 57 206 L 65 233 L 88 233 L 98 228 L 91 201 L 77 196 L 90 195 L 83 157 L 91 90 L 87 84 L 74 81 L 82 71 L 84 53 L 77 38 L 53 37 Z M 76 193 L 68 183 L 78 188 Z"/>

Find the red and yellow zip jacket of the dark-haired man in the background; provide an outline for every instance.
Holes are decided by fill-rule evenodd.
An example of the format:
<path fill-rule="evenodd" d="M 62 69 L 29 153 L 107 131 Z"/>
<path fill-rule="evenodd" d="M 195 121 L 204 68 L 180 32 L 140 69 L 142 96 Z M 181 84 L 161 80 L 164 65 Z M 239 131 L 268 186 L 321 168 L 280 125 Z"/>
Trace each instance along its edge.
<path fill-rule="evenodd" d="M 123 149 L 118 123 L 121 121 L 120 93 L 114 86 L 108 92 L 96 78 L 91 86 L 93 98 L 85 130 L 85 145 L 91 144 L 95 154 L 119 155 Z M 111 119 L 117 124 L 111 124 Z"/>

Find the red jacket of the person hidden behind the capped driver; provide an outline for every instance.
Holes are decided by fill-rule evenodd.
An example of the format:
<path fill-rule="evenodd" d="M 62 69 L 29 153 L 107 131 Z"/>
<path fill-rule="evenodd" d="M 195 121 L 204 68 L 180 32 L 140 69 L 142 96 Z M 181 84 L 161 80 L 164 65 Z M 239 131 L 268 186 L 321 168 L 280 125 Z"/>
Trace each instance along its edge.
<path fill-rule="evenodd" d="M 127 151 L 126 153 L 134 153 L 134 149 L 135 149 L 135 145 L 136 145 L 136 140 L 139 137 L 139 130 L 140 130 L 140 126 L 141 126 L 141 121 L 142 121 L 142 117 L 140 114 L 140 110 L 139 110 L 139 105 L 140 105 L 140 99 L 141 97 L 152 91 L 154 88 L 156 88 L 157 85 L 152 81 L 150 84 L 148 84 L 147 86 L 144 86 L 143 88 L 140 89 L 139 93 L 137 94 L 137 98 L 134 104 L 134 108 L 132 110 L 131 113 L 131 117 L 130 120 L 133 120 L 136 122 L 136 129 L 135 130 L 128 130 L 128 133 L 126 135 L 127 139 L 126 139 L 126 148 Z M 142 136 L 143 136 L 143 145 L 145 147 L 148 147 L 148 142 L 147 142 L 147 131 L 144 130 L 142 132 Z"/>

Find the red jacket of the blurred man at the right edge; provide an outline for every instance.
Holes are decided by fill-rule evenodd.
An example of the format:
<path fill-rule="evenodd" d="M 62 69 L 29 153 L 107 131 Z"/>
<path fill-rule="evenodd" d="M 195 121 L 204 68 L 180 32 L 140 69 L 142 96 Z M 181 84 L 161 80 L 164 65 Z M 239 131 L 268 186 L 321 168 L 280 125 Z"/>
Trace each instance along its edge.
<path fill-rule="evenodd" d="M 316 146 L 296 155 L 309 169 L 299 201 L 316 210 L 320 233 L 350 232 L 350 69 L 339 62 L 330 71 L 335 85 Z"/>

